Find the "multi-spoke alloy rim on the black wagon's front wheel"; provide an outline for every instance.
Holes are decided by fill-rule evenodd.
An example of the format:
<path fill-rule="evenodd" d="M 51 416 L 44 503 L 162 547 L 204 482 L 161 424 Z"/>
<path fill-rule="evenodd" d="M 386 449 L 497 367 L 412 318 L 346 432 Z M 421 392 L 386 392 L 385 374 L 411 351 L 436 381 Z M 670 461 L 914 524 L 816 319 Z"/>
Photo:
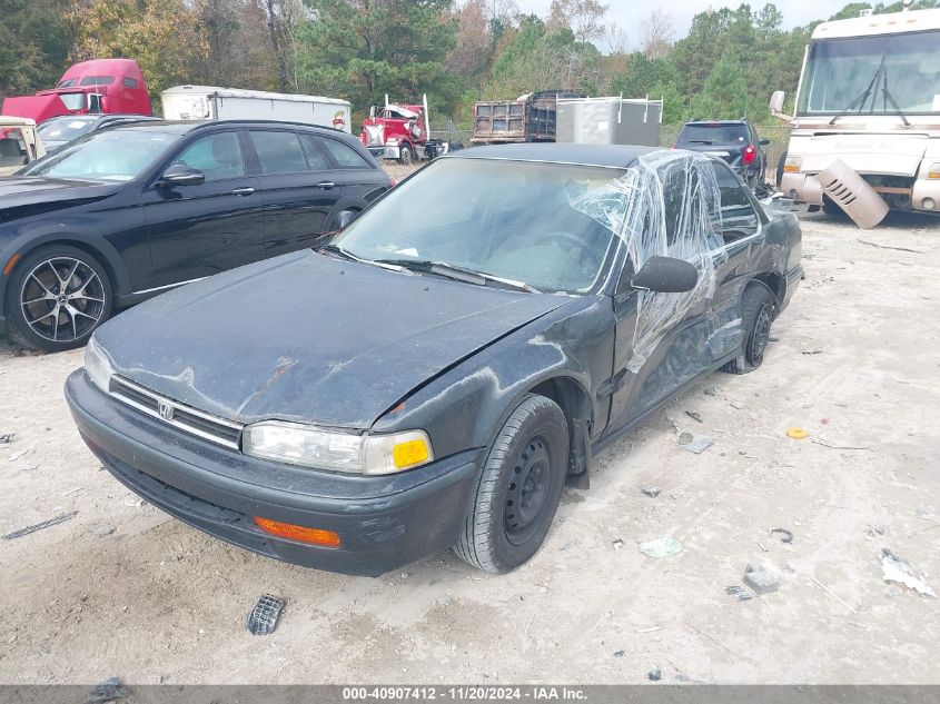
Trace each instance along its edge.
<path fill-rule="evenodd" d="M 42 339 L 75 341 L 105 316 L 105 285 L 81 259 L 51 257 L 27 275 L 20 308 L 26 324 Z"/>

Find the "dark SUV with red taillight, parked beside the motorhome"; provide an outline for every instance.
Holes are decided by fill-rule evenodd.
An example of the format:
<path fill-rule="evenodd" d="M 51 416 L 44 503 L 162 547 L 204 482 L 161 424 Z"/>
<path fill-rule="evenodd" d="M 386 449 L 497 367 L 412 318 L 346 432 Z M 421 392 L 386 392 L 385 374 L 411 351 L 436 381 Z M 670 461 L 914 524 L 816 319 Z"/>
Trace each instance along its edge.
<path fill-rule="evenodd" d="M 693 120 L 682 128 L 675 146 L 724 159 L 748 186 L 756 188 L 764 180 L 763 147 L 769 143 L 746 120 Z"/>

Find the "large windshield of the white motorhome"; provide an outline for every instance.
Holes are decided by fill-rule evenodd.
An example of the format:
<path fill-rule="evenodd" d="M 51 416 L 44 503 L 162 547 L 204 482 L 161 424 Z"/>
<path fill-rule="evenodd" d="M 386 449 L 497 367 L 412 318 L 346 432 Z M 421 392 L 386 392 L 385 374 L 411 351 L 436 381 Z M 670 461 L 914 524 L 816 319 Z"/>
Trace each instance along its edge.
<path fill-rule="evenodd" d="M 815 41 L 796 115 L 937 115 L 938 75 L 940 30 Z"/>

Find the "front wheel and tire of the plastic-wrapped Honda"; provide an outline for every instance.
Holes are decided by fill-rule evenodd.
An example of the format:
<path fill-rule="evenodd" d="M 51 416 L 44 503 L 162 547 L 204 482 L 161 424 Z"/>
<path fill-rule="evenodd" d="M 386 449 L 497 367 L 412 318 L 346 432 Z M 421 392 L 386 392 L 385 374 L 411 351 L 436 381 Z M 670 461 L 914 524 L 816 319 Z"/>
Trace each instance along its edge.
<path fill-rule="evenodd" d="M 565 484 L 567 423 L 544 396 L 528 394 L 499 429 L 471 497 L 456 555 L 504 574 L 542 546 Z"/>

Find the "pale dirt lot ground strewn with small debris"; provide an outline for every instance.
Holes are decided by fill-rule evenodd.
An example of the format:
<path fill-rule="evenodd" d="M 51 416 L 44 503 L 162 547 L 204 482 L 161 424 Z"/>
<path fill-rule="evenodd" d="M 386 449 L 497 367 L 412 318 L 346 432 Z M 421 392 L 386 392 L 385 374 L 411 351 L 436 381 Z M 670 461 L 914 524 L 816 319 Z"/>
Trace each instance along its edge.
<path fill-rule="evenodd" d="M 61 388 L 81 351 L 0 338 L 0 435 L 16 434 L 0 534 L 78 512 L 0 542 L 0 682 L 629 683 L 654 667 L 664 682 L 940 682 L 938 601 L 880 565 L 890 547 L 940 591 L 940 221 L 860 232 L 810 216 L 804 230 L 807 279 L 764 366 L 699 383 L 604 452 L 507 576 L 446 554 L 337 576 L 169 519 L 79 439 Z M 675 426 L 714 446 L 681 450 Z M 683 551 L 637 549 L 659 536 Z M 749 563 L 776 569 L 779 592 L 725 594 Z M 288 605 L 255 637 L 244 618 L 265 592 Z"/>

